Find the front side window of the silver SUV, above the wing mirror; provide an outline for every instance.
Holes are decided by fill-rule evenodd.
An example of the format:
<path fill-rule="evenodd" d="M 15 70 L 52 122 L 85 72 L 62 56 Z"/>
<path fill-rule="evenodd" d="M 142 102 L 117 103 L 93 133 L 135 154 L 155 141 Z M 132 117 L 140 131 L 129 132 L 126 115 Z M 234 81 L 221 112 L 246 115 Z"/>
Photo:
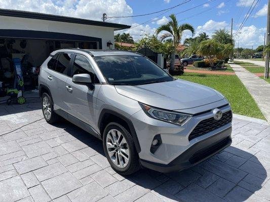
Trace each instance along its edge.
<path fill-rule="evenodd" d="M 75 74 L 90 74 L 92 82 L 94 81 L 94 83 L 99 83 L 92 66 L 84 56 L 76 55 L 72 67 L 71 77 Z"/>

